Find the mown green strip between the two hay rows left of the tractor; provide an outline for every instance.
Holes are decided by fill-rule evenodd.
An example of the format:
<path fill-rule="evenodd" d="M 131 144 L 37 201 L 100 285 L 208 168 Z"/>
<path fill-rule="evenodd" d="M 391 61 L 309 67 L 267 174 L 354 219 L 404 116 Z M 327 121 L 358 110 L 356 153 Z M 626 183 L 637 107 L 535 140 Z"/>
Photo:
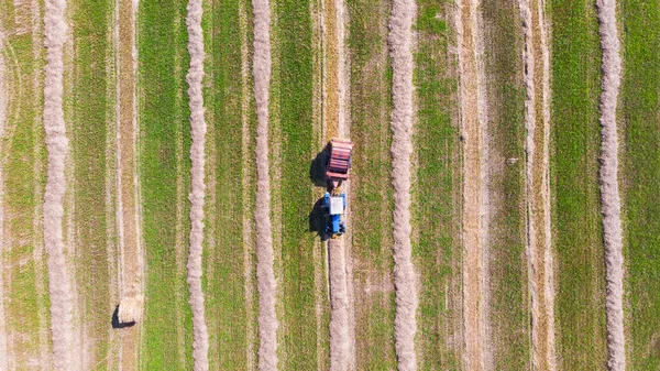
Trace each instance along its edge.
<path fill-rule="evenodd" d="M 209 128 L 204 283 L 210 369 L 254 370 L 257 363 L 249 6 L 245 1 L 208 2 L 202 20 Z M 239 28 L 227 26 L 237 19 Z"/>

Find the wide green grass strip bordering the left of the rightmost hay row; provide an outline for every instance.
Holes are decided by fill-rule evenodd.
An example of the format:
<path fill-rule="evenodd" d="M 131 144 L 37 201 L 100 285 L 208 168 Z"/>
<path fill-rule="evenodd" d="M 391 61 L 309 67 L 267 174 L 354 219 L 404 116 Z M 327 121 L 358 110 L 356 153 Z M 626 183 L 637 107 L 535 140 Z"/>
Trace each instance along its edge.
<path fill-rule="evenodd" d="M 605 281 L 598 201 L 600 41 L 592 1 L 553 0 L 552 240 L 557 356 L 605 367 Z"/>

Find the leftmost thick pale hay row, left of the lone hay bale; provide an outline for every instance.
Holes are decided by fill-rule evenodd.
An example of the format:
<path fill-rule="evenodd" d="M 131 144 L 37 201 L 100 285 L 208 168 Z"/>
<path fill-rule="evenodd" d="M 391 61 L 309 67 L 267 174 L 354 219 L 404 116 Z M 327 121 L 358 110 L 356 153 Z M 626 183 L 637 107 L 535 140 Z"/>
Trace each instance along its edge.
<path fill-rule="evenodd" d="M 78 370 L 73 327 L 72 282 L 67 272 L 63 215 L 66 190 L 65 161 L 69 152 L 63 112 L 63 45 L 66 41 L 66 2 L 47 0 L 45 7 L 46 67 L 44 85 L 44 128 L 48 151 L 48 170 L 44 195 L 44 242 L 48 253 L 48 286 L 51 293 L 51 329 L 53 368 Z"/>

